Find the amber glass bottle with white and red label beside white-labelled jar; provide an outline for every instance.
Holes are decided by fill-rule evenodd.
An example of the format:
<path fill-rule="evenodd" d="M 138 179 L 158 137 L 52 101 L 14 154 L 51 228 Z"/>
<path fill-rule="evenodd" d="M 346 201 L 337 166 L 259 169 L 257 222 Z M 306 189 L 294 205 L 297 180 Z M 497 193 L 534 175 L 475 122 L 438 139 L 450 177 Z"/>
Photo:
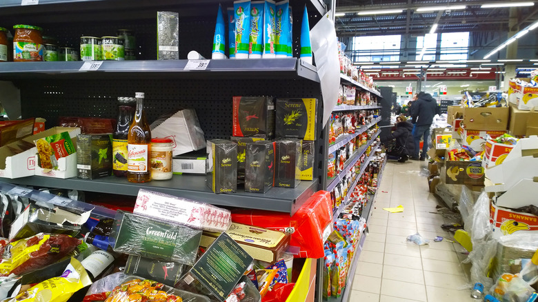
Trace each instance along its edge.
<path fill-rule="evenodd" d="M 137 92 L 137 110 L 127 135 L 127 180 L 132 183 L 151 181 L 151 130 L 143 110 L 144 93 Z"/>

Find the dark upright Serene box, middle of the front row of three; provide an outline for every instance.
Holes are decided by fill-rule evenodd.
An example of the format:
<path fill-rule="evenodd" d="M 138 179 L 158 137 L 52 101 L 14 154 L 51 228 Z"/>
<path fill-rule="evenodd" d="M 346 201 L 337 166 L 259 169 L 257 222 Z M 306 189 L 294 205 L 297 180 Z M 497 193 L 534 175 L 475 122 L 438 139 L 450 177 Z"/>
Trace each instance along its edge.
<path fill-rule="evenodd" d="M 275 181 L 275 145 L 256 141 L 246 145 L 245 192 L 265 193 Z"/>

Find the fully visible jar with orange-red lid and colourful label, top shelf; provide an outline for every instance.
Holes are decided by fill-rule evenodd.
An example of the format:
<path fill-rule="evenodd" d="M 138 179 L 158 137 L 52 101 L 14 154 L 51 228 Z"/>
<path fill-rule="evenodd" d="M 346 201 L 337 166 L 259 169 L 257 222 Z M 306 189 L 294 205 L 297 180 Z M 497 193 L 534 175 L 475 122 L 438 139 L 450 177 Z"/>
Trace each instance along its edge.
<path fill-rule="evenodd" d="M 43 29 L 23 24 L 13 28 L 13 61 L 43 61 Z"/>

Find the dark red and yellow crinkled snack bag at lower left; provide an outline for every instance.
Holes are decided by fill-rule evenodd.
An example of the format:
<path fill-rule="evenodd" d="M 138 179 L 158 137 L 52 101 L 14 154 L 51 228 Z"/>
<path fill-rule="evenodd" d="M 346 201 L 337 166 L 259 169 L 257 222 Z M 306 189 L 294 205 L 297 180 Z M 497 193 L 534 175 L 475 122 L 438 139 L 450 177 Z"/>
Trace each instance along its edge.
<path fill-rule="evenodd" d="M 62 234 L 39 233 L 9 244 L 0 263 L 0 273 L 21 276 L 59 261 L 81 244 L 80 239 Z"/>

